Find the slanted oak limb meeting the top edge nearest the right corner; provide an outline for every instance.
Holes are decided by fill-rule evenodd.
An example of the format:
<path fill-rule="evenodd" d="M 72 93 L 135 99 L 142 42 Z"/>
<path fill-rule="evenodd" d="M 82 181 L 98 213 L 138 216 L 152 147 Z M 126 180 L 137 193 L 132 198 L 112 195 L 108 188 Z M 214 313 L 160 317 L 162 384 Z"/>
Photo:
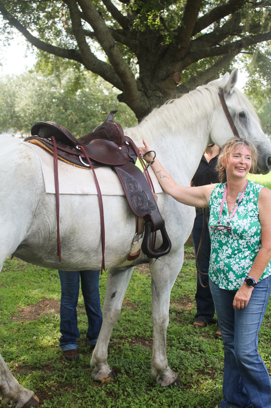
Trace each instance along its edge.
<path fill-rule="evenodd" d="M 192 32 L 192 37 L 198 34 L 204 28 L 208 27 L 210 24 L 213 24 L 215 21 L 220 20 L 221 18 L 242 9 L 247 1 L 248 0 L 229 0 L 227 3 L 224 3 L 221 6 L 217 6 L 213 10 L 210 10 L 208 13 L 197 20 Z"/>

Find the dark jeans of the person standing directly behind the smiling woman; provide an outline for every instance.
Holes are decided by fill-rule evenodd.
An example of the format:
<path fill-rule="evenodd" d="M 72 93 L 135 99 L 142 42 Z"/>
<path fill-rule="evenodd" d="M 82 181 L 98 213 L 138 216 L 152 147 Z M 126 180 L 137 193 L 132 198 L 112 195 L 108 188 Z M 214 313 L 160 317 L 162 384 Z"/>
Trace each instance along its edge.
<path fill-rule="evenodd" d="M 202 225 L 203 225 L 203 214 L 197 213 L 194 226 L 192 229 L 192 239 L 195 249 L 195 255 L 197 255 L 198 247 L 200 243 L 200 237 L 202 232 Z M 200 262 L 200 270 L 204 274 L 208 274 L 209 270 L 209 259 L 210 259 L 210 251 L 211 251 L 211 244 L 210 244 L 210 235 L 208 229 L 208 220 L 204 231 L 204 242 L 202 248 L 202 256 Z M 208 275 L 201 275 L 201 281 L 204 286 L 208 285 L 209 279 Z M 197 303 L 197 313 L 195 316 L 195 320 L 200 320 L 202 322 L 209 323 L 214 315 L 215 315 L 215 305 L 213 301 L 212 294 L 210 292 L 209 286 L 203 288 L 199 282 L 197 277 L 197 291 L 195 295 L 196 303 Z"/>

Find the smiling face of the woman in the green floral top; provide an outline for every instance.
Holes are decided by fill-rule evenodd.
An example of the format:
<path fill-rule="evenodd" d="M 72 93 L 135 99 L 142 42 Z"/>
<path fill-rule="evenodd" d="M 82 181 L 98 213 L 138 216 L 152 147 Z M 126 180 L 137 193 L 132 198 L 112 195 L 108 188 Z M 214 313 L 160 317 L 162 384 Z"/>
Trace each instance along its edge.
<path fill-rule="evenodd" d="M 240 146 L 234 152 L 229 153 L 226 163 L 227 178 L 246 177 L 252 165 L 251 151 L 247 146 Z"/>

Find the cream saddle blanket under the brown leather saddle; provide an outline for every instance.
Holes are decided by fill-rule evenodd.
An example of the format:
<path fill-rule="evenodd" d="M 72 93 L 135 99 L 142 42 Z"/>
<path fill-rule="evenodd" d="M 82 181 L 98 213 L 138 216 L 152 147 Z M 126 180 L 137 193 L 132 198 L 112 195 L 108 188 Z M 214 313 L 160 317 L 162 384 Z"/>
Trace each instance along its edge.
<path fill-rule="evenodd" d="M 33 144 L 32 146 L 36 149 L 40 158 L 45 191 L 46 193 L 54 194 L 53 155 L 40 146 Z M 149 167 L 148 171 L 154 184 L 155 193 L 162 193 L 163 190 L 153 169 Z M 96 168 L 95 173 L 102 195 L 125 195 L 118 176 L 112 172 L 110 167 Z M 58 160 L 58 183 L 59 194 L 97 194 L 92 170 L 73 166 L 63 160 Z"/>

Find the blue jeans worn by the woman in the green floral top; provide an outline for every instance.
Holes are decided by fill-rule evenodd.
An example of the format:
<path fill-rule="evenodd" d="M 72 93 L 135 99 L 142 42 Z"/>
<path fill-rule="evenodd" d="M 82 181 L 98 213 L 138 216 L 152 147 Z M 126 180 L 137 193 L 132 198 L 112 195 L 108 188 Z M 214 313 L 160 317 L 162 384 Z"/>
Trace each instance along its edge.
<path fill-rule="evenodd" d="M 271 408 L 271 381 L 258 353 L 258 332 L 267 307 L 271 277 L 258 282 L 246 308 L 234 310 L 237 290 L 220 289 L 209 280 L 224 344 L 220 408 Z"/>

